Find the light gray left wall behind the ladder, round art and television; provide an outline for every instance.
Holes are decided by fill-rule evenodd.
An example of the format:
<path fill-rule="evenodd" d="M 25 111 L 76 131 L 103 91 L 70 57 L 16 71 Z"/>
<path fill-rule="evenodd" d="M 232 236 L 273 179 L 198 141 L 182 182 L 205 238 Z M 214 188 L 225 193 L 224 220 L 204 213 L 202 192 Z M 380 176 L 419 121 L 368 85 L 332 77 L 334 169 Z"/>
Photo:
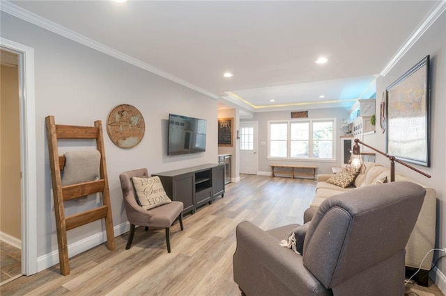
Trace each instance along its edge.
<path fill-rule="evenodd" d="M 38 257 L 57 250 L 45 132 L 47 115 L 54 115 L 56 124 L 92 126 L 95 120 L 102 120 L 115 226 L 127 221 L 118 180 L 121 172 L 147 167 L 149 173 L 155 173 L 217 163 L 217 101 L 214 99 L 6 13 L 1 13 L 1 37 L 33 47 L 35 54 Z M 146 122 L 144 139 L 132 149 L 115 146 L 105 130 L 109 112 L 119 104 L 137 107 Z M 167 156 L 169 113 L 208 121 L 205 153 Z M 62 143 L 59 152 L 72 145 L 72 142 Z M 80 146 L 84 145 L 94 147 L 93 142 L 81 141 Z M 68 202 L 66 213 L 95 206 L 95 202 L 94 196 L 83 202 Z M 104 230 L 102 222 L 72 229 L 68 231 L 68 244 Z"/>

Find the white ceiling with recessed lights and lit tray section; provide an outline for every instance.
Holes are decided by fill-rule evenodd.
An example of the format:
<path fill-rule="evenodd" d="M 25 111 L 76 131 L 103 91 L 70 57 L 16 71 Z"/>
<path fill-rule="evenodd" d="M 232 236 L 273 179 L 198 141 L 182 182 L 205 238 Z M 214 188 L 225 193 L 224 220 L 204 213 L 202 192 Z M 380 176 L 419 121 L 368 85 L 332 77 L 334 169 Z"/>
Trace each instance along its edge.
<path fill-rule="evenodd" d="M 10 3 L 9 10 L 50 21 L 35 24 L 243 114 L 349 108 L 355 99 L 373 97 L 378 74 L 431 12 L 444 6 L 401 0 Z M 328 63 L 314 63 L 319 56 Z M 224 78 L 224 72 L 233 77 Z"/>

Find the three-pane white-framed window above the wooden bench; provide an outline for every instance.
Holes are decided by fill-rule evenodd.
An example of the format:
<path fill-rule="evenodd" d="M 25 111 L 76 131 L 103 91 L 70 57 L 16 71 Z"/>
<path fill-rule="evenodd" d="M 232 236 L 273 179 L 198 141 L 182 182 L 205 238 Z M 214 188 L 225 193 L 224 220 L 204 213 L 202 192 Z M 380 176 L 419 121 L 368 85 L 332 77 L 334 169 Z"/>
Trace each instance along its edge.
<path fill-rule="evenodd" d="M 268 122 L 268 157 L 334 159 L 335 119 Z"/>

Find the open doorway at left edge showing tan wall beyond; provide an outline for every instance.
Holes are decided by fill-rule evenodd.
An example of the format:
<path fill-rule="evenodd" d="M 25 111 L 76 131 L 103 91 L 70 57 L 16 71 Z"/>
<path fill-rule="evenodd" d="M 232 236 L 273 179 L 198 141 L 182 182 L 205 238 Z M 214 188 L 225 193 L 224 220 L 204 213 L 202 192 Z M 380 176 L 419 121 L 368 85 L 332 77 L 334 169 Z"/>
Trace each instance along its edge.
<path fill-rule="evenodd" d="M 19 55 L 0 49 L 0 285 L 22 275 Z"/>

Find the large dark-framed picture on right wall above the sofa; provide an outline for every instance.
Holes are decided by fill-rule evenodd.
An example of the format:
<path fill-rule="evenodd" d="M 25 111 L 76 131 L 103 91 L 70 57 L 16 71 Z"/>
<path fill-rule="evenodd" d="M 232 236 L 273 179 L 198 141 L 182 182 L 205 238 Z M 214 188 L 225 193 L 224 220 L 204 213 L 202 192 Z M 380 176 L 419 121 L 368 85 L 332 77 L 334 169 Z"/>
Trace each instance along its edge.
<path fill-rule="evenodd" d="M 429 56 L 386 89 L 386 152 L 430 167 Z"/>

